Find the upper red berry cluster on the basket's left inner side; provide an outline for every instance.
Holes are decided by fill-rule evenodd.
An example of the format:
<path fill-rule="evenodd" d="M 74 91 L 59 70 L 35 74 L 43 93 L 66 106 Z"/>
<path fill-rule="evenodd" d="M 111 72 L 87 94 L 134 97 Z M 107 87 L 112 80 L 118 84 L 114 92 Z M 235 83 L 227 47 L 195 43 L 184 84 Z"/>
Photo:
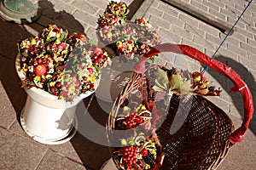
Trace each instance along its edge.
<path fill-rule="evenodd" d="M 131 129 L 137 127 L 143 122 L 143 117 L 139 116 L 137 112 L 133 112 L 130 116 L 125 116 L 125 121 L 123 124 L 125 124 L 126 129 Z"/>

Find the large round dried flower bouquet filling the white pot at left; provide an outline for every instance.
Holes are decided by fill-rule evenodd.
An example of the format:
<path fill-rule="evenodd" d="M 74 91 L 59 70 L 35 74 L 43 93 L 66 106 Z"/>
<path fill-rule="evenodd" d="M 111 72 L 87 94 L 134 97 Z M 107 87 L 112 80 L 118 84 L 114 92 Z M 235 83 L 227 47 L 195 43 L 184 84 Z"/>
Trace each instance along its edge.
<path fill-rule="evenodd" d="M 18 43 L 22 87 L 40 88 L 59 99 L 73 101 L 93 91 L 108 53 L 83 34 L 49 25 L 38 34 Z"/>

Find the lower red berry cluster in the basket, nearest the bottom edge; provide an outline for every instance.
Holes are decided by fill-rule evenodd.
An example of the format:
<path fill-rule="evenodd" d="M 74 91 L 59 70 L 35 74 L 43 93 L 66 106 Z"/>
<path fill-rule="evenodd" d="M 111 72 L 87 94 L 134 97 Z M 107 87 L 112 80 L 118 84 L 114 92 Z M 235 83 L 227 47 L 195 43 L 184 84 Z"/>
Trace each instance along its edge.
<path fill-rule="evenodd" d="M 126 169 L 131 169 L 132 164 L 137 162 L 137 151 L 137 145 L 125 146 L 120 150 L 120 154 L 123 154 Z"/>

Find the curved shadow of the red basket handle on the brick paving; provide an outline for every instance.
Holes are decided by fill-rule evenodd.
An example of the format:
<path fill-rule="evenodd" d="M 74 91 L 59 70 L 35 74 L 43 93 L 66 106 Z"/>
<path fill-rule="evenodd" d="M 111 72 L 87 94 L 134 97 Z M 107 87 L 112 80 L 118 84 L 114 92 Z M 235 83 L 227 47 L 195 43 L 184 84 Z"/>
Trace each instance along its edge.
<path fill-rule="evenodd" d="M 255 96 L 255 91 L 256 91 L 256 82 L 255 78 L 253 75 L 250 73 L 250 71 L 247 70 L 247 68 L 244 65 L 241 65 L 241 63 L 237 62 L 234 59 L 230 59 L 229 57 L 223 56 L 223 55 L 218 55 L 216 60 L 224 63 L 225 65 L 229 65 L 238 75 L 240 75 L 241 79 L 247 83 L 247 86 L 249 87 L 251 93 L 253 94 L 253 104 L 254 104 L 254 110 L 256 107 L 256 96 Z M 212 71 L 212 69 L 209 69 L 207 71 L 215 80 L 218 81 L 220 85 L 224 85 L 224 76 L 219 75 L 216 71 Z M 227 93 L 230 94 L 230 98 L 232 99 L 233 106 L 230 108 L 230 113 L 232 114 L 232 111 L 235 109 L 239 112 L 239 114 L 243 117 L 244 116 L 244 111 L 243 111 L 243 100 L 241 98 L 240 93 L 230 93 L 230 88 L 232 88 L 233 82 L 231 82 L 229 79 L 226 79 L 226 85 L 223 86 L 223 90 Z M 252 122 L 250 123 L 250 130 L 256 135 L 256 115 L 255 112 L 253 113 L 253 119 Z"/>

